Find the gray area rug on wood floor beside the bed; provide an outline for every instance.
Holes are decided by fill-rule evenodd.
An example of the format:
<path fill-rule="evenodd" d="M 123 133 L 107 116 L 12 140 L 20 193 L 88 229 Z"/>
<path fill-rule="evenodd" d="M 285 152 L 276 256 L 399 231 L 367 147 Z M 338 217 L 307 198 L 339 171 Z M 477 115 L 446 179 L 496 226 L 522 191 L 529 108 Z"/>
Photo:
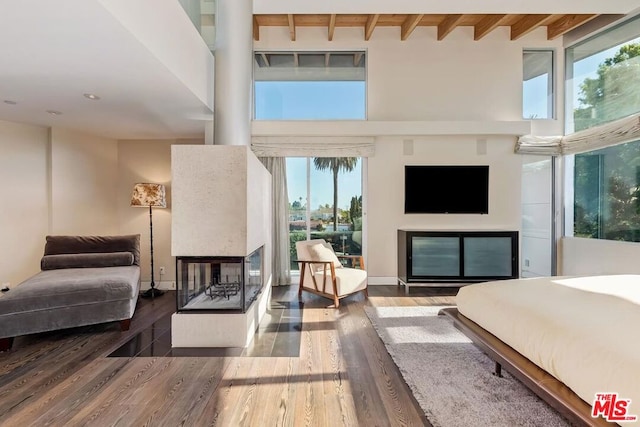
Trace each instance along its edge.
<path fill-rule="evenodd" d="M 442 307 L 365 307 L 365 312 L 434 427 L 569 426 L 565 418 L 502 371 Z"/>

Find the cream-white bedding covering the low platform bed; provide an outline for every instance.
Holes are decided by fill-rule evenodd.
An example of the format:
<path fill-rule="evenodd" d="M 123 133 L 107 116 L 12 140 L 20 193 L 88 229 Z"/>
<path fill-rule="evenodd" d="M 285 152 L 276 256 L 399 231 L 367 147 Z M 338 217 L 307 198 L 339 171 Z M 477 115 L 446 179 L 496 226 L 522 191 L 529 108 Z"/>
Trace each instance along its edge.
<path fill-rule="evenodd" d="M 460 288 L 456 303 L 589 405 L 616 392 L 640 418 L 640 275 L 478 283 Z"/>

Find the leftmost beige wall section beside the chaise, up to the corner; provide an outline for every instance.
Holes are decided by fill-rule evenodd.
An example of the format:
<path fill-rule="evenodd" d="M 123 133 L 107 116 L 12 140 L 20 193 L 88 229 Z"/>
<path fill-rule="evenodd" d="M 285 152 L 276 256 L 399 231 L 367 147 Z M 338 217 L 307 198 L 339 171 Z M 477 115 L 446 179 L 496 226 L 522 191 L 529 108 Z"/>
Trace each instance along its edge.
<path fill-rule="evenodd" d="M 49 226 L 48 129 L 0 121 L 0 284 L 40 271 Z"/>

